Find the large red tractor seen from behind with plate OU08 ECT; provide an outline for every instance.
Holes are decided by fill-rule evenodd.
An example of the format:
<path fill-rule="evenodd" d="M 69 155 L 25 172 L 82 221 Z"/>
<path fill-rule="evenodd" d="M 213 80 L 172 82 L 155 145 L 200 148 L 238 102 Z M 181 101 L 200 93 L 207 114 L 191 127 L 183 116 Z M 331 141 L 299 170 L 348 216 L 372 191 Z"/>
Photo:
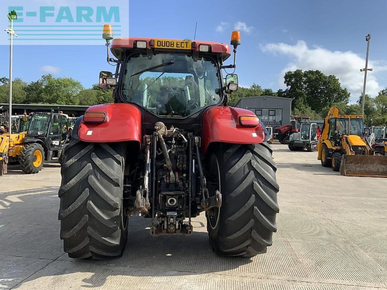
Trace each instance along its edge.
<path fill-rule="evenodd" d="M 108 53 L 113 39 L 105 25 Z M 240 34 L 231 37 L 233 52 Z M 119 38 L 111 43 L 115 77 L 100 87 L 115 102 L 77 119 L 65 149 L 59 190 L 60 238 L 71 258 L 121 256 L 128 217 L 150 219 L 151 235 L 191 234 L 207 218 L 209 241 L 223 256 L 266 252 L 279 212 L 276 164 L 251 111 L 227 106 L 238 77 L 222 71 L 224 43 Z M 151 241 L 149 241 L 151 242 Z"/>

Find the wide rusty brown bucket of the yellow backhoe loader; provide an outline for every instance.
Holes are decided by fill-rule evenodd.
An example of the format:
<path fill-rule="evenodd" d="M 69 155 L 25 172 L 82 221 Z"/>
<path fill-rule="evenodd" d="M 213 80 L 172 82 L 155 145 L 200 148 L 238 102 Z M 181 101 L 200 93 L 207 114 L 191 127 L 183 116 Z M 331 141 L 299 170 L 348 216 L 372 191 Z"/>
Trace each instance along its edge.
<path fill-rule="evenodd" d="M 387 156 L 342 155 L 340 173 L 345 176 L 387 177 Z"/>

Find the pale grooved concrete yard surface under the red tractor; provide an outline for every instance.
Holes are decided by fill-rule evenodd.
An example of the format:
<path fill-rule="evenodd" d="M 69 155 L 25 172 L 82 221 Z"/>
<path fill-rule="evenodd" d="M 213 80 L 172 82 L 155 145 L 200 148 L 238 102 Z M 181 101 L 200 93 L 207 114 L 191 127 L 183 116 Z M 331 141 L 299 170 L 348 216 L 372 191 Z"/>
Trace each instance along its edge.
<path fill-rule="evenodd" d="M 59 239 L 60 166 L 0 177 L 0 289 L 387 289 L 387 178 L 346 177 L 273 144 L 281 186 L 266 254 L 223 258 L 205 218 L 194 233 L 151 237 L 131 217 L 122 258 L 74 260 Z M 387 157 L 386 157 L 387 158 Z"/>

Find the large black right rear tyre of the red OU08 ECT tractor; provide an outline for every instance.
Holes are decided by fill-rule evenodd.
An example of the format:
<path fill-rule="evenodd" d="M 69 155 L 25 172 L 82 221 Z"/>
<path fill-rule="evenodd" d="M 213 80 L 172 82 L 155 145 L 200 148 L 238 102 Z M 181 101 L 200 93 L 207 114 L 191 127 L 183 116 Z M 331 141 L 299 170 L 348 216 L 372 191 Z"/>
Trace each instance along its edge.
<path fill-rule="evenodd" d="M 214 150 L 219 163 L 222 205 L 219 218 L 207 230 L 221 256 L 253 257 L 272 245 L 279 212 L 276 164 L 267 143 L 221 144 Z M 213 170 L 214 171 L 214 170 Z"/>

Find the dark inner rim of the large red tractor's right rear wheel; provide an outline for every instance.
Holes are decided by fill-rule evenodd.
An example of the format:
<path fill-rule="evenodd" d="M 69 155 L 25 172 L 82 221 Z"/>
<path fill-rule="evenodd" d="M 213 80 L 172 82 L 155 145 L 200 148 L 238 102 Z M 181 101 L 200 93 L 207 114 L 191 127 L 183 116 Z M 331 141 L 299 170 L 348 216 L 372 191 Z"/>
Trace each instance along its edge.
<path fill-rule="evenodd" d="M 214 196 L 217 190 L 221 193 L 219 162 L 215 154 L 212 154 L 210 157 L 208 177 L 209 183 L 207 184 L 209 187 L 209 195 Z M 220 208 L 213 208 L 212 213 L 212 215 L 207 213 L 208 222 L 210 227 L 215 229 L 219 223 Z"/>

